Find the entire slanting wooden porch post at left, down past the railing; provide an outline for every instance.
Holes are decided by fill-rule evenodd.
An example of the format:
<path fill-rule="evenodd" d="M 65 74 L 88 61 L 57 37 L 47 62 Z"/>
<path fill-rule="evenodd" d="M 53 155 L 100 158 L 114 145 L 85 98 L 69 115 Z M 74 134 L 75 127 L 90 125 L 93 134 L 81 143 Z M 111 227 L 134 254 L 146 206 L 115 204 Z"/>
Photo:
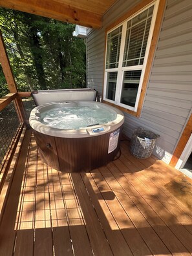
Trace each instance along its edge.
<path fill-rule="evenodd" d="M 5 79 L 8 84 L 8 89 L 11 93 L 17 93 L 17 85 L 14 79 L 14 75 L 12 72 L 12 68 L 10 67 L 10 61 L 8 59 L 8 55 L 6 53 L 5 43 L 3 41 L 3 36 L 0 30 L 0 62 L 3 69 L 3 73 L 5 74 Z M 25 114 L 25 108 L 23 106 L 23 102 L 19 97 L 19 94 L 16 96 L 16 110 L 21 122 L 27 123 L 27 118 Z"/>

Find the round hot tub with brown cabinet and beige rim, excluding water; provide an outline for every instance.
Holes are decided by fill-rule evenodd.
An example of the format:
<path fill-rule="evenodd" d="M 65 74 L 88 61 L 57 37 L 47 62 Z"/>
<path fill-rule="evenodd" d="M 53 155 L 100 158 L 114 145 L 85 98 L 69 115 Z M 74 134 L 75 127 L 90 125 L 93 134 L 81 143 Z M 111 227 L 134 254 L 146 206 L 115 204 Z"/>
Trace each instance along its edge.
<path fill-rule="evenodd" d="M 58 103 L 52 103 L 54 104 L 58 107 Z M 116 111 L 116 120 L 77 131 L 67 131 L 39 122 L 39 112 L 50 109 L 50 103 L 36 107 L 30 114 L 30 125 L 43 162 L 59 171 L 91 171 L 112 161 L 118 153 L 124 120 L 122 112 L 103 103 L 81 101 L 78 104 L 96 104 L 109 108 L 110 111 Z"/>

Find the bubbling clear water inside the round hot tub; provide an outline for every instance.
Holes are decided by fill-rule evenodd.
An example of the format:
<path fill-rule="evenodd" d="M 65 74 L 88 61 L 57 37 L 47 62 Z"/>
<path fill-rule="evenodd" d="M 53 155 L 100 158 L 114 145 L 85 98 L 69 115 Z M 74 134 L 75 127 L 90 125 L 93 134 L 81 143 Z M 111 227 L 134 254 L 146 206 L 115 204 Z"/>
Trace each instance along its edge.
<path fill-rule="evenodd" d="M 101 107 L 59 107 L 41 114 L 41 123 L 58 129 L 80 129 L 116 119 L 116 113 Z"/>

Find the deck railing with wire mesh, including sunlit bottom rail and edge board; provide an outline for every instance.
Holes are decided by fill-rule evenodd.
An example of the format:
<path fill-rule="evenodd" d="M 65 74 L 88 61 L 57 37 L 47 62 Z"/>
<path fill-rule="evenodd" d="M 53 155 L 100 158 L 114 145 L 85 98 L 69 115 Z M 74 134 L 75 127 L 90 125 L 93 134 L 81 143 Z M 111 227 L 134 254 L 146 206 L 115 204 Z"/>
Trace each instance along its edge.
<path fill-rule="evenodd" d="M 13 92 L 0 98 L 0 222 L 33 104 L 30 92 Z"/>

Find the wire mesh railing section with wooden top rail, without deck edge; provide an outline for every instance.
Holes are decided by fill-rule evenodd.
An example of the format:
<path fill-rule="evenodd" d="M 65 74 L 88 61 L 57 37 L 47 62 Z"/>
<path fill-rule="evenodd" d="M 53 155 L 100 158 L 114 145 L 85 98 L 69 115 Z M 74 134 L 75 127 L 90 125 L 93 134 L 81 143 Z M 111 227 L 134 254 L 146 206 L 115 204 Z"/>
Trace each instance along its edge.
<path fill-rule="evenodd" d="M 19 98 L 23 102 L 19 104 Z M 3 169 L 10 157 L 12 145 L 23 129 L 24 122 L 28 125 L 30 111 L 34 107 L 34 101 L 30 92 L 10 93 L 0 99 L 0 182 L 3 176 Z M 26 119 L 21 118 L 21 111 L 25 112 Z"/>

